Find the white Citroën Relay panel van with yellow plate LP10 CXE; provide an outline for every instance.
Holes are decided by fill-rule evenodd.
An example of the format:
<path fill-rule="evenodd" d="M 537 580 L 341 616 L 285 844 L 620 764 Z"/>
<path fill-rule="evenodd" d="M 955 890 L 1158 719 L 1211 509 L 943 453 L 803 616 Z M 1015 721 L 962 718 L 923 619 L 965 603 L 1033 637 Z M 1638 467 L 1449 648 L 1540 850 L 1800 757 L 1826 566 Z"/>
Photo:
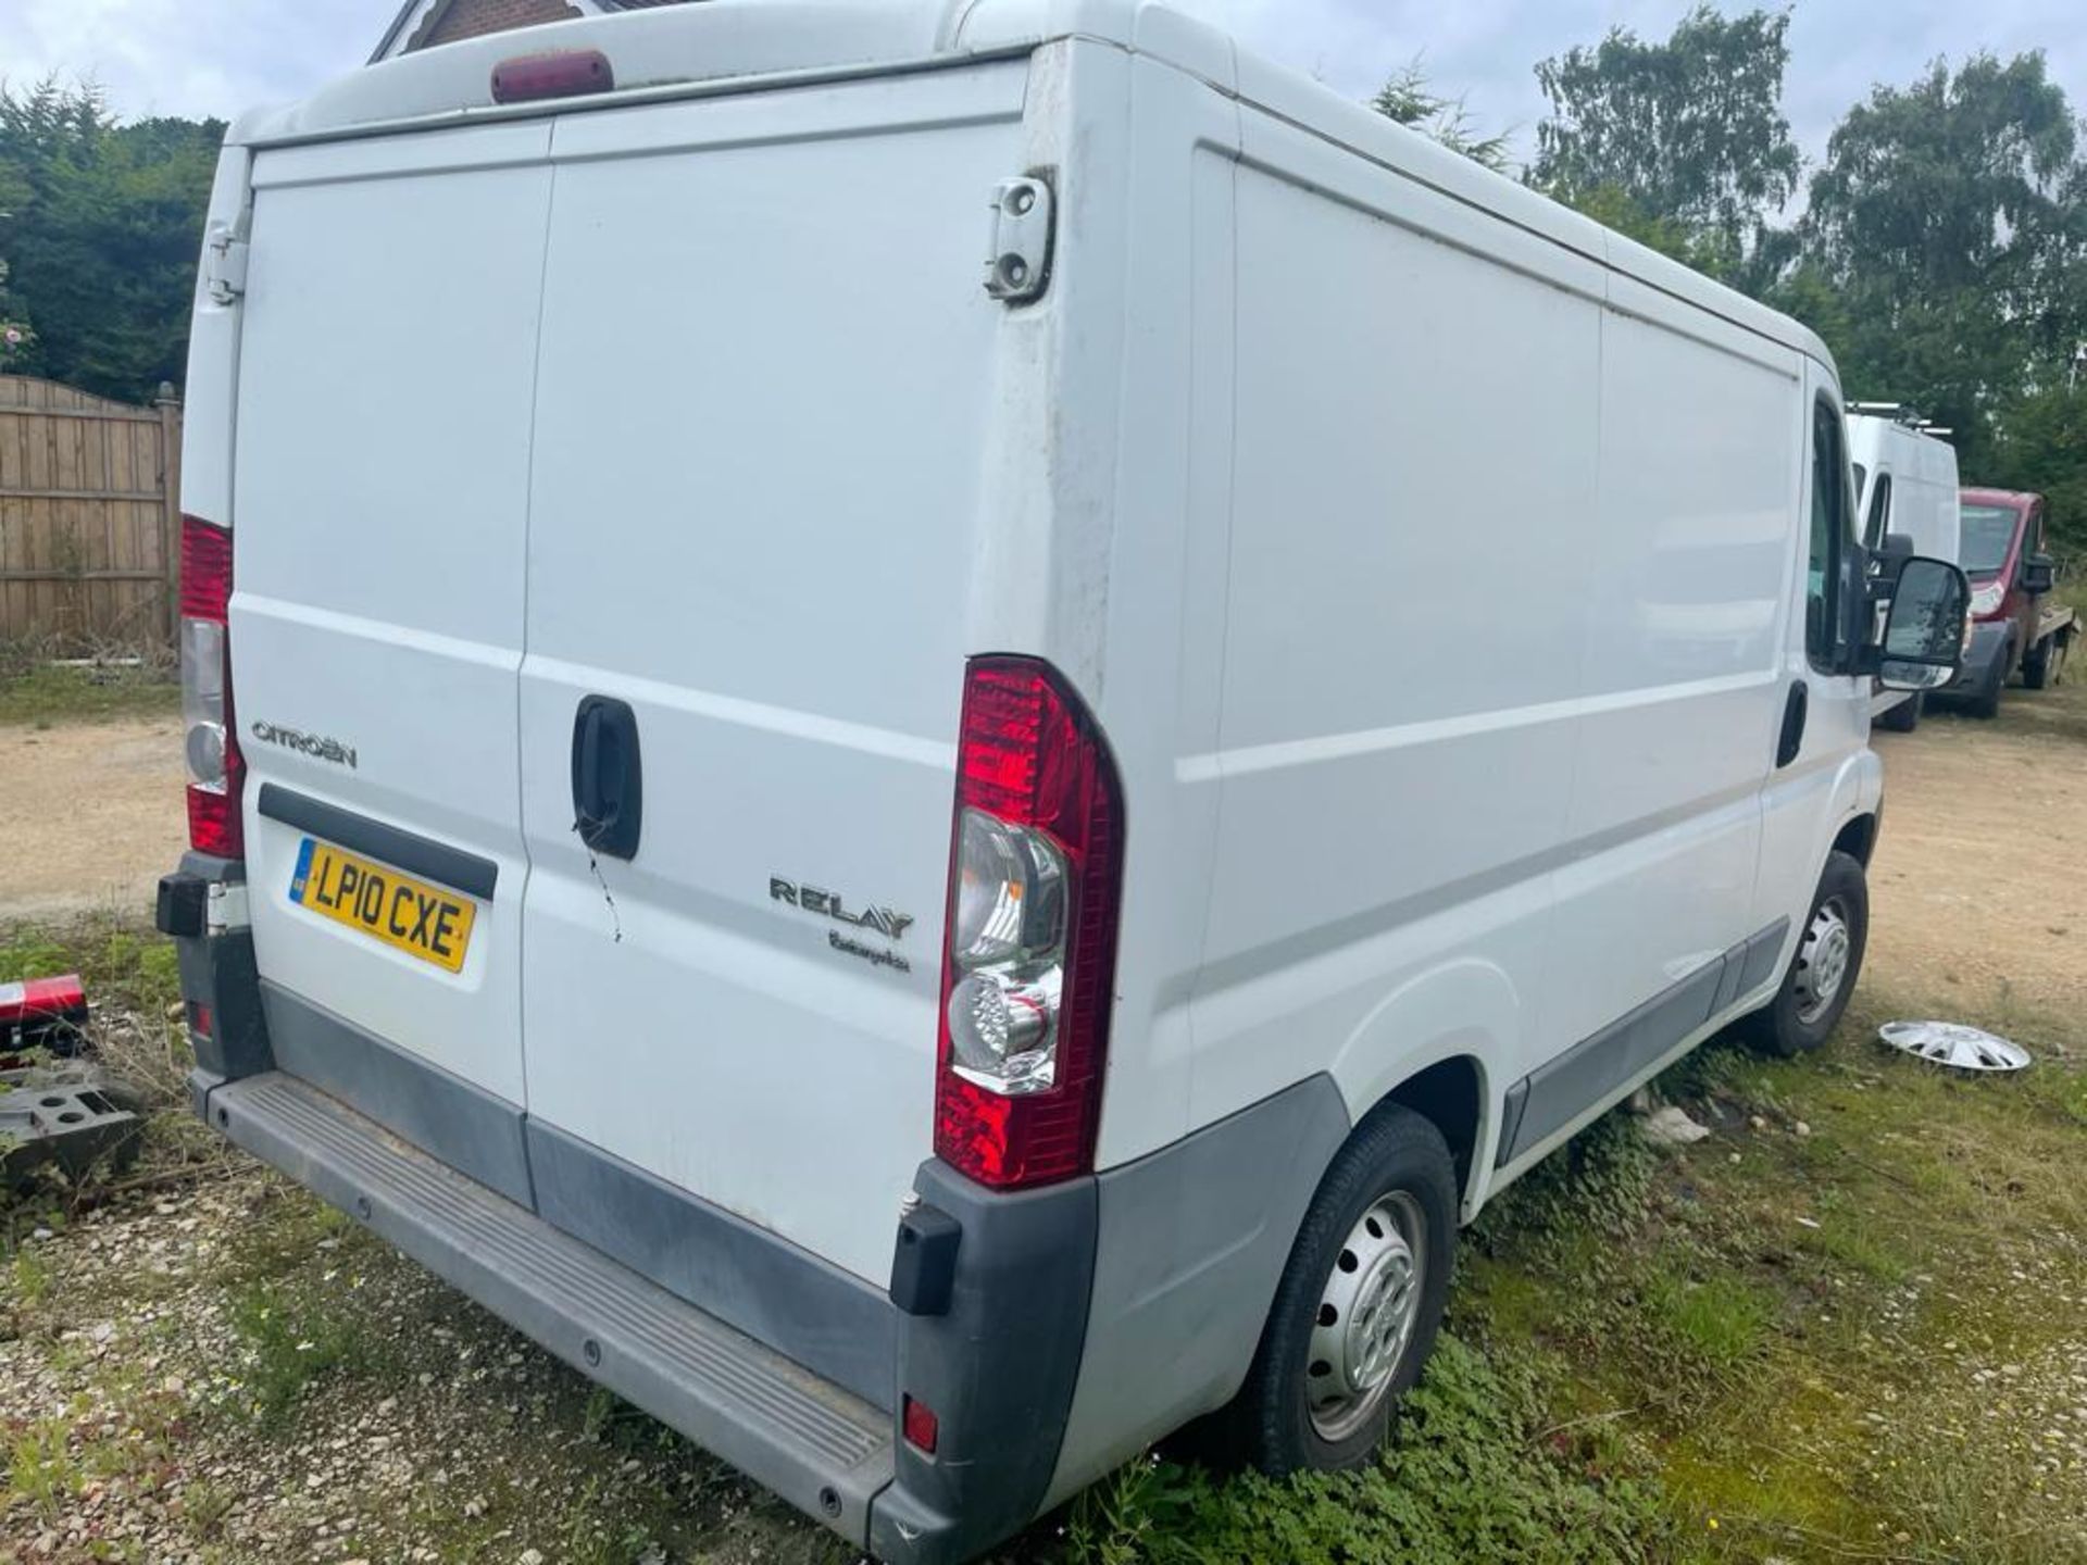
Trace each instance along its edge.
<path fill-rule="evenodd" d="M 1492 1194 L 1832 1029 L 1962 643 L 1809 332 L 1142 0 L 253 115 L 188 405 L 198 1112 L 893 1561 L 1365 1461 Z"/>

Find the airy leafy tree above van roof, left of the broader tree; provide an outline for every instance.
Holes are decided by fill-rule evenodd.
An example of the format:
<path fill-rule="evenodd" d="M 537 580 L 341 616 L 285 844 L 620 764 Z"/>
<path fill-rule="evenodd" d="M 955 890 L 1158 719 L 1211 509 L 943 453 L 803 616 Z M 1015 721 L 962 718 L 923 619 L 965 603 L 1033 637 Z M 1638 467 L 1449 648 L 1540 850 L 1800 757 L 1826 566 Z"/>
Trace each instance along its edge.
<path fill-rule="evenodd" d="M 1530 184 L 1674 223 L 1693 250 L 1736 263 L 1797 192 L 1782 117 L 1789 27 L 1786 10 L 1720 17 L 1705 4 L 1663 44 L 1613 27 L 1594 48 L 1542 61 L 1551 115 L 1536 125 Z"/>

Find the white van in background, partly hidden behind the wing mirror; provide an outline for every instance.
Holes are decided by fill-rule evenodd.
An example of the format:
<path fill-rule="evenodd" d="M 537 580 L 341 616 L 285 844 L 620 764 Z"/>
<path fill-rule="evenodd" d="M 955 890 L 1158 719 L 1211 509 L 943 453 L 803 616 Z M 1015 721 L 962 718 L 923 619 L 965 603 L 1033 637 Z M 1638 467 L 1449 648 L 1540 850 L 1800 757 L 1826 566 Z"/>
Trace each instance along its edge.
<path fill-rule="evenodd" d="M 1855 403 L 1847 415 L 1847 455 L 1855 465 L 1855 507 L 1862 547 L 1885 559 L 1908 549 L 1926 559 L 1960 565 L 1956 447 L 1939 430 L 1897 403 Z M 1920 724 L 1924 691 L 1878 691 L 1870 718 L 1895 732 Z"/>

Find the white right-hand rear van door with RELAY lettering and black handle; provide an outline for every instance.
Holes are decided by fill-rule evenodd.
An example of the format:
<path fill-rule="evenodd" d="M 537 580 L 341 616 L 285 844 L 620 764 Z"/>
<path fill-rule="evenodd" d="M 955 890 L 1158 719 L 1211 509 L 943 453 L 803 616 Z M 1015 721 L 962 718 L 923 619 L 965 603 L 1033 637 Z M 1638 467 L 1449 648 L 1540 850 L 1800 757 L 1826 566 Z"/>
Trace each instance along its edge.
<path fill-rule="evenodd" d="M 931 1152 L 1025 75 L 557 125 L 522 666 L 547 1214 L 599 1210 L 557 1181 L 605 1158 L 889 1277 Z M 576 835 L 595 793 L 639 812 L 630 858 Z"/>

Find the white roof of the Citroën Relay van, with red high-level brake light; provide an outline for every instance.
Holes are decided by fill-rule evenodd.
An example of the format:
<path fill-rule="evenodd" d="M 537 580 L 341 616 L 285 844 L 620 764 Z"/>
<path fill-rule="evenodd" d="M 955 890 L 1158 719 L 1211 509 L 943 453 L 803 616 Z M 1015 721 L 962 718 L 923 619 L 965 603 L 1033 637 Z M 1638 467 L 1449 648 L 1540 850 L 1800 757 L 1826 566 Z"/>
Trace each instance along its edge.
<path fill-rule="evenodd" d="M 578 113 L 632 98 L 743 90 L 751 81 L 837 77 L 960 58 L 1025 54 L 1060 38 L 1094 38 L 1165 61 L 1219 92 L 1411 179 L 1494 213 L 1530 234 L 1720 315 L 1832 367 L 1805 326 L 1678 261 L 1586 219 L 1438 142 L 1394 125 L 1275 65 L 1160 0 L 701 0 L 493 33 L 382 61 L 286 109 L 244 115 L 232 142 L 332 140 L 407 125 Z M 601 50 L 618 92 L 593 100 L 495 106 L 493 67 L 515 54 Z"/>

